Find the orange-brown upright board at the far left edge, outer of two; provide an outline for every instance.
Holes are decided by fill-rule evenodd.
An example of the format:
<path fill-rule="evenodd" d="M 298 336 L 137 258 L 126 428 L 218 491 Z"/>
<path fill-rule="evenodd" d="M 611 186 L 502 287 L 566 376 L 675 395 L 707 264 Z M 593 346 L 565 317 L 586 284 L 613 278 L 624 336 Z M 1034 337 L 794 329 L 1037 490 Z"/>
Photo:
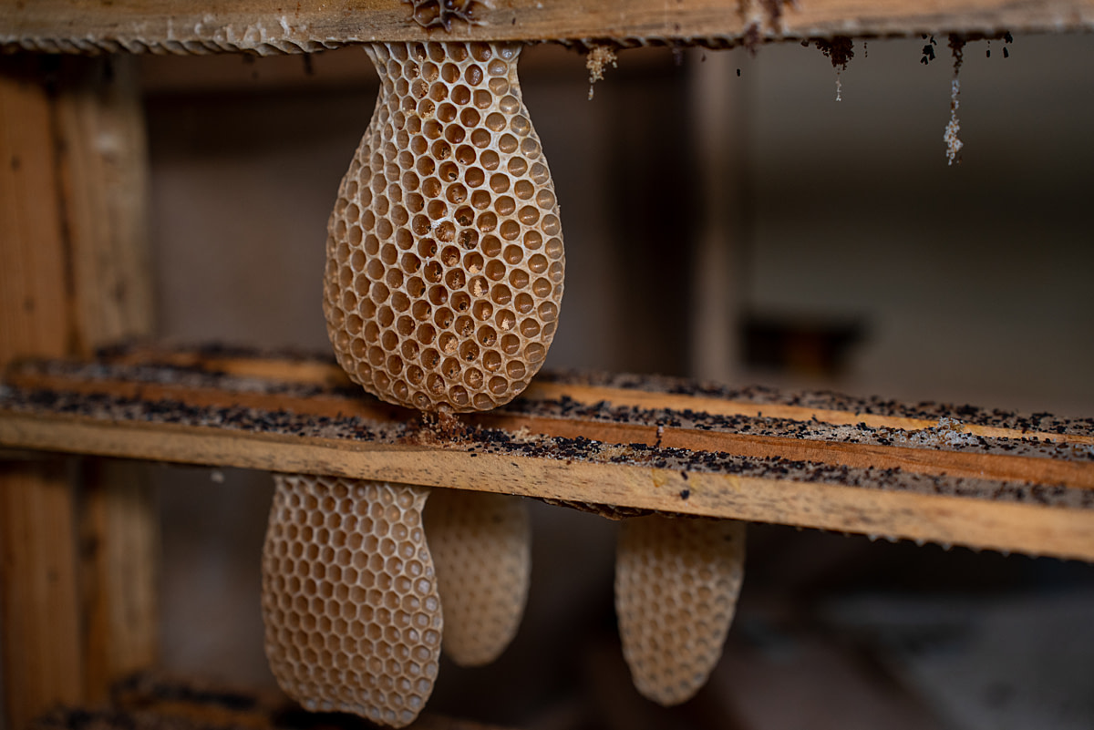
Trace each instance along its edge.
<path fill-rule="evenodd" d="M 53 105 L 37 59 L 0 58 L 0 364 L 68 352 Z M 0 462 L 7 727 L 82 698 L 75 492 L 63 463 Z"/>

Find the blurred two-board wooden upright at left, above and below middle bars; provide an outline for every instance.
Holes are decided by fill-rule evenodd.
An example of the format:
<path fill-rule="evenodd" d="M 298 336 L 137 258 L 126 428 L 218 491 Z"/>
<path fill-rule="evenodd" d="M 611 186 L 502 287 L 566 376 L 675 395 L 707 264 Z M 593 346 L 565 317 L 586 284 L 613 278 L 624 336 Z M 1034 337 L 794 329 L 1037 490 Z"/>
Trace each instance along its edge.
<path fill-rule="evenodd" d="M 0 59 L 0 368 L 149 333 L 146 175 L 132 59 Z M 11 730 L 155 657 L 154 516 L 132 469 L 0 466 Z"/>

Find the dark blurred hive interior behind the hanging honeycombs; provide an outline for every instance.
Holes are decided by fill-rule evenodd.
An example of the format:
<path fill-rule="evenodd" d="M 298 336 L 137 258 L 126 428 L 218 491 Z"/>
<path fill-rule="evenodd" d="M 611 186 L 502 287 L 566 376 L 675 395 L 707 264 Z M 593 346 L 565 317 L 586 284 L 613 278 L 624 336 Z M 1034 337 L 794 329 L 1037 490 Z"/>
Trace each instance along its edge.
<path fill-rule="evenodd" d="M 624 51 L 592 102 L 581 56 L 526 49 L 524 102 L 567 243 L 566 297 L 545 366 L 1094 413 L 1094 43 L 1020 36 L 1005 59 L 1001 42 L 990 58 L 985 42 L 970 44 L 954 167 L 942 139 L 952 67 L 942 51 L 920 63 L 923 43 L 857 43 L 839 103 L 829 60 L 796 44 L 755 57 L 693 49 L 679 64 L 667 49 Z M 328 350 L 326 222 L 375 104 L 368 58 L 319 55 L 311 75 L 299 58 L 144 61 L 160 333 Z M 720 111 L 697 102 L 709 64 L 724 66 Z M 705 114 L 729 137 L 717 155 L 696 142 Z M 718 275 L 729 317 L 720 321 L 734 330 L 722 369 L 696 373 L 696 341 L 724 334 L 689 316 L 710 167 L 722 170 L 715 200 L 726 219 Z M 510 272 L 504 244 L 496 248 L 491 261 Z M 488 258 L 462 262 L 489 276 Z M 783 340 L 766 352 L 782 354 L 749 368 L 744 334 L 772 321 L 771 337 Z M 813 334 L 794 334 L 801 322 Z M 847 322 L 857 335 L 838 357 L 825 354 L 831 338 L 815 333 Z M 268 476 L 230 471 L 213 483 L 206 470 L 154 471 L 164 663 L 272 682 L 258 608 Z M 954 648 L 932 639 L 934 625 L 920 626 L 917 654 L 894 648 L 876 615 L 873 633 L 854 633 L 823 611 L 864 591 L 919 591 L 945 605 L 982 601 L 984 611 L 1025 597 L 1026 614 L 1051 615 L 1040 609 L 1054 596 L 1094 584 L 1090 566 L 754 526 L 738 615 L 710 687 L 674 711 L 654 710 L 630 685 L 619 647 L 617 527 L 538 504 L 531 514 L 528 605 L 513 645 L 481 669 L 442 660 L 431 709 L 537 727 L 773 728 L 793 723 L 794 708 L 799 720 L 843 728 L 893 727 L 894 717 L 907 728 L 1000 727 L 992 722 L 1006 708 L 1034 719 L 1047 711 L 1037 699 L 1047 695 L 1026 690 L 1020 667 L 1094 676 L 1062 650 L 977 664 L 978 635 L 957 619 L 945 625 L 965 626 L 967 641 Z M 903 627 L 900 640 L 911 635 Z M 1094 645 L 1089 632 L 1074 641 Z M 980 674 L 965 672 L 974 679 L 964 699 L 945 698 L 917 673 L 924 657 L 964 657 Z M 1058 727 L 1081 727 L 1068 717 L 1087 705 L 1075 707 Z"/>

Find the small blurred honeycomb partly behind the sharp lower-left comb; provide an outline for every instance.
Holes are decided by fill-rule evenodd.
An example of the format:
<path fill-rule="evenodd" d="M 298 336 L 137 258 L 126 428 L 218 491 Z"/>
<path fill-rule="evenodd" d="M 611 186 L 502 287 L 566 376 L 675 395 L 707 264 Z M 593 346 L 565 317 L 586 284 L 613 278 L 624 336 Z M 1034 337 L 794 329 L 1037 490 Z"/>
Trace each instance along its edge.
<path fill-rule="evenodd" d="M 527 506 L 501 494 L 438 490 L 424 519 L 444 607 L 444 652 L 464 667 L 487 664 L 509 646 L 524 613 Z"/>

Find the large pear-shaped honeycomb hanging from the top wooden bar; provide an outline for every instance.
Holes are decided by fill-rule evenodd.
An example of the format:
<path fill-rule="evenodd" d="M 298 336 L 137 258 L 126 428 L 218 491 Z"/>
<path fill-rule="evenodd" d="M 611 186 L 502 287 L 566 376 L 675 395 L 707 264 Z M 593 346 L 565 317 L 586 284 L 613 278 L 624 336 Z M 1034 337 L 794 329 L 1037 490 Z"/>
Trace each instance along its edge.
<path fill-rule="evenodd" d="M 327 226 L 324 314 L 339 364 L 391 403 L 507 403 L 555 337 L 562 232 L 521 48 L 366 48 L 382 87 Z"/>

